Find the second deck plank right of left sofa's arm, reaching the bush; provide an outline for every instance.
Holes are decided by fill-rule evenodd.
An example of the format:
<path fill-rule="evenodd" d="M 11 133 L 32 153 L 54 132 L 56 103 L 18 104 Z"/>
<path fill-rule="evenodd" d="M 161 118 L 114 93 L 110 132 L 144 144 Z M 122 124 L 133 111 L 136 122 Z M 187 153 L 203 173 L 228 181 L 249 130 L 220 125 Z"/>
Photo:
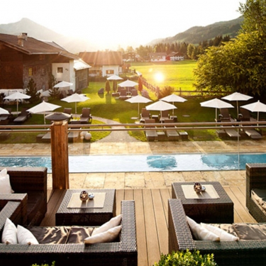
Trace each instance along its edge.
<path fill-rule="evenodd" d="M 151 189 L 143 189 L 143 202 L 145 214 L 145 231 L 147 235 L 148 265 L 160 260 L 160 247 L 157 238 L 155 213 Z"/>

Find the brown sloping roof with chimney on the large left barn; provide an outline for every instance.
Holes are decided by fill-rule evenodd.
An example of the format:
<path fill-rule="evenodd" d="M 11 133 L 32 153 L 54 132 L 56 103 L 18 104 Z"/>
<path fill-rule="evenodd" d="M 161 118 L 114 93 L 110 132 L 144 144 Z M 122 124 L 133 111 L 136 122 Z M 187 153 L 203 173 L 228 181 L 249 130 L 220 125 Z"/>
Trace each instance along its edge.
<path fill-rule="evenodd" d="M 27 55 L 62 55 L 72 59 L 79 59 L 77 55 L 67 52 L 64 48 L 60 47 L 54 42 L 48 42 L 43 40 L 37 40 L 32 37 L 28 37 L 26 33 L 23 38 L 23 45 L 18 43 L 17 35 L 9 35 L 0 33 L 0 43 L 8 46 L 9 48 L 16 49 Z"/>

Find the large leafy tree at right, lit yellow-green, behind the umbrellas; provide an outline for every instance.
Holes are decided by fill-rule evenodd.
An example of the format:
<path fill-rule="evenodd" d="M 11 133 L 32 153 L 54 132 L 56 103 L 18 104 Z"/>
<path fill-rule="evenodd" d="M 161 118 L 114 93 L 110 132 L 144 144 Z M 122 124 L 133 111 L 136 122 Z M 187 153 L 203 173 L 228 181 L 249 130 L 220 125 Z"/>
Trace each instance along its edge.
<path fill-rule="evenodd" d="M 244 22 L 238 36 L 199 57 L 196 89 L 265 95 L 266 0 L 247 0 L 239 10 Z"/>

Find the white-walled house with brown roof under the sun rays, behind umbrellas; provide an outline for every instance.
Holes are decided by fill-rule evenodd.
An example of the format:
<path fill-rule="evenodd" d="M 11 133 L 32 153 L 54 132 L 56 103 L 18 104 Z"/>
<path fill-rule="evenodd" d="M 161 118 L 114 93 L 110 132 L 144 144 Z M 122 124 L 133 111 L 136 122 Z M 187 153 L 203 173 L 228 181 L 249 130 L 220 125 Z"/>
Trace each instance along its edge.
<path fill-rule="evenodd" d="M 111 77 L 122 72 L 122 52 L 79 52 L 79 57 L 92 66 L 89 77 Z"/>

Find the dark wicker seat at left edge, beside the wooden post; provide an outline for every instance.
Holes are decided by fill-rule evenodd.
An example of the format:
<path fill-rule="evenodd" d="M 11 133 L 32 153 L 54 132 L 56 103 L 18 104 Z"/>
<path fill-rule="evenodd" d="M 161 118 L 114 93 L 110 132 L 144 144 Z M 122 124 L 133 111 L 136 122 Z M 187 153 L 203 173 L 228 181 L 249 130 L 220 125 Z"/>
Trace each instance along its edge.
<path fill-rule="evenodd" d="M 0 167 L 3 170 L 4 167 Z M 47 211 L 47 168 L 6 167 L 13 194 L 0 194 L 0 200 L 21 201 L 23 195 L 23 225 L 39 225 Z M 25 195 L 24 195 L 25 197 Z"/>

